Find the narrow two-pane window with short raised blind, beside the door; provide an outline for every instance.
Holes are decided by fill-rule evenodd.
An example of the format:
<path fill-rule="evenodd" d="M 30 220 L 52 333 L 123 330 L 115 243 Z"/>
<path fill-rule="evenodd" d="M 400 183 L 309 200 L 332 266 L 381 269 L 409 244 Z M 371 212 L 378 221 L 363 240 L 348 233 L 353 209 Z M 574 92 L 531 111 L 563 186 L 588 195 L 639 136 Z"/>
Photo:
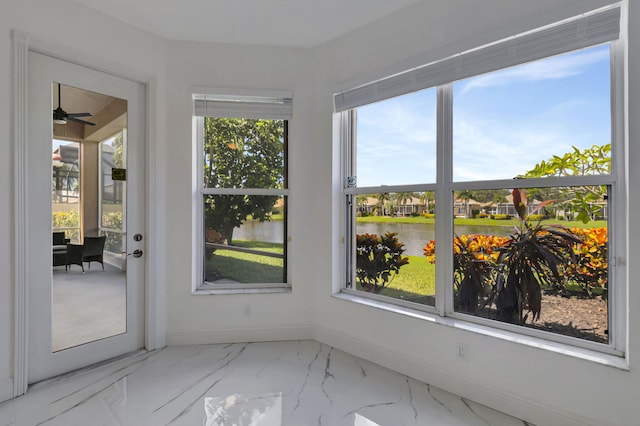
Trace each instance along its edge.
<path fill-rule="evenodd" d="M 201 268 L 198 288 L 288 287 L 291 99 L 195 95 Z"/>

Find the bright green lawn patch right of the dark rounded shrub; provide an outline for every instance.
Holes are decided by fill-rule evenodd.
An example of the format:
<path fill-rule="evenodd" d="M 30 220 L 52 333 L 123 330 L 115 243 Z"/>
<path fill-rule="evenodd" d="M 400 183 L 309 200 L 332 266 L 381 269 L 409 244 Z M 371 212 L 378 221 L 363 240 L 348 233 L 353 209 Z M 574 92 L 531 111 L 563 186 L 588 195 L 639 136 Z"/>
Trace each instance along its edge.
<path fill-rule="evenodd" d="M 388 287 L 380 292 L 380 295 L 433 304 L 433 297 L 436 294 L 435 265 L 430 264 L 422 256 L 408 257 L 409 263 L 400 268 L 400 273 L 395 276 Z M 357 288 L 362 290 L 360 286 Z"/>

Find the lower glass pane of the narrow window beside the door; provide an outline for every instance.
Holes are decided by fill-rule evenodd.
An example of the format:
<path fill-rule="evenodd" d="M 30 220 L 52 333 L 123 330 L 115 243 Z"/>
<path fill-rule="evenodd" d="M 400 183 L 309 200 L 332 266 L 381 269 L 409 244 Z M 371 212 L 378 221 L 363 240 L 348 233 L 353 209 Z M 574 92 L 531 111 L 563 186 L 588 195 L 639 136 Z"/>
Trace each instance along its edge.
<path fill-rule="evenodd" d="M 204 197 L 204 280 L 286 283 L 286 197 Z"/>

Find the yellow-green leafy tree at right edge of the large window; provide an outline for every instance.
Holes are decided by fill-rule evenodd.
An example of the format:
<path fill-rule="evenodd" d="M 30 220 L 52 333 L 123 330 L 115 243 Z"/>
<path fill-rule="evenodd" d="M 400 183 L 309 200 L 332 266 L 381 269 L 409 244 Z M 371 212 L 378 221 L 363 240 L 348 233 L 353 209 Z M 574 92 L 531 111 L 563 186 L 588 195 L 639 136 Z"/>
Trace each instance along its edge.
<path fill-rule="evenodd" d="M 591 148 L 583 150 L 574 146 L 572 152 L 561 157 L 554 155 L 550 160 L 536 164 L 533 169 L 519 177 L 590 176 L 610 172 L 611 144 L 605 144 L 593 145 Z M 607 188 L 606 186 L 582 185 L 559 188 L 554 191 L 555 193 L 552 193 L 551 189 L 537 189 L 532 192 L 543 192 L 546 199 L 556 198 L 557 204 L 577 211 L 578 220 L 587 223 L 600 209 L 597 203 L 602 203 L 606 199 Z"/>

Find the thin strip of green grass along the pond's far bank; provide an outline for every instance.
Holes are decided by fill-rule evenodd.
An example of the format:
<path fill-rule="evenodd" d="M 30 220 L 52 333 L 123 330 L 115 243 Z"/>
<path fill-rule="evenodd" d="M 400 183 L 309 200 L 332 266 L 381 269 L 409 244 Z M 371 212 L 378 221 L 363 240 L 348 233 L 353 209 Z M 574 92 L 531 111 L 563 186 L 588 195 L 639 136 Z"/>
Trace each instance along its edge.
<path fill-rule="evenodd" d="M 434 224 L 434 218 L 426 218 L 423 216 L 415 217 L 391 217 L 391 216 L 365 216 L 356 218 L 358 223 L 413 223 L 413 224 Z M 475 226 L 508 226 L 518 225 L 519 221 L 515 218 L 509 220 L 495 220 L 488 217 L 484 218 L 462 218 L 457 217 L 453 220 L 455 225 L 475 225 Z M 546 225 L 563 225 L 567 228 L 604 228 L 607 226 L 605 220 L 592 220 L 582 223 L 578 220 L 556 220 L 545 219 L 542 223 Z"/>

